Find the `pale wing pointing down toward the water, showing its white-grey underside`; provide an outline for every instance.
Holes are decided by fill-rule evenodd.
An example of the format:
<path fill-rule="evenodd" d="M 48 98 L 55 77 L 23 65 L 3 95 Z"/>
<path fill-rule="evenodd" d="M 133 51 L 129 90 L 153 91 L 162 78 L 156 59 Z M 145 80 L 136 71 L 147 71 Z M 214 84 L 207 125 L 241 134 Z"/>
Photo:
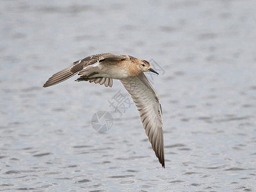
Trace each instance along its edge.
<path fill-rule="evenodd" d="M 159 97 L 147 77 L 127 77 L 119 80 L 131 95 L 140 119 L 159 163 L 164 167 L 163 118 Z"/>

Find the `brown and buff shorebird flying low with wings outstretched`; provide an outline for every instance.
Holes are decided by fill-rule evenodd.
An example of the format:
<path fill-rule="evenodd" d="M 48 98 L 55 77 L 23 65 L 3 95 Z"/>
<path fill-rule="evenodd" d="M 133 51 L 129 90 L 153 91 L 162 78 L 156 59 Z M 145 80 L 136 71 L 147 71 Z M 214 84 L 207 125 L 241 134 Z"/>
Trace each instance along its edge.
<path fill-rule="evenodd" d="M 164 168 L 163 112 L 159 97 L 144 72 L 158 75 L 146 60 L 129 55 L 94 54 L 52 75 L 43 87 L 61 83 L 76 74 L 79 75 L 76 81 L 89 81 L 106 87 L 113 86 L 113 79 L 118 79 L 131 95 L 152 149 Z"/>

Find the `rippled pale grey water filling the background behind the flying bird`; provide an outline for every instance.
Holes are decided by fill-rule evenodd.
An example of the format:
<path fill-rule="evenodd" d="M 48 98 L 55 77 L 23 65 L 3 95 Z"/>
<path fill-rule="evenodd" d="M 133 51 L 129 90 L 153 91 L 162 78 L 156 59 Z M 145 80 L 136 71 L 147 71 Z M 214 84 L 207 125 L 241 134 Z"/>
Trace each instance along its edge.
<path fill-rule="evenodd" d="M 255 1 L 1 1 L 0 191 L 255 191 Z M 100 52 L 164 69 L 161 168 L 124 88 L 55 72 Z M 104 99 L 102 99 L 102 97 Z M 109 111 L 113 126 L 90 120 Z"/>

